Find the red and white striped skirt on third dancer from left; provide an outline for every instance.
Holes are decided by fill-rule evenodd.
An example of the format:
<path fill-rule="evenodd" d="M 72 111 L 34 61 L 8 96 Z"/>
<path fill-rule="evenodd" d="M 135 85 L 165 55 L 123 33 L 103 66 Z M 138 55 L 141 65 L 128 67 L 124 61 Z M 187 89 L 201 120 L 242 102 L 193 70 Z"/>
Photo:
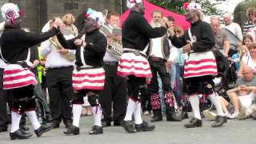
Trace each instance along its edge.
<path fill-rule="evenodd" d="M 151 78 L 152 73 L 150 70 L 150 64 L 141 55 L 135 55 L 134 53 L 123 53 L 118 62 L 119 76 L 134 75 L 135 77 Z"/>

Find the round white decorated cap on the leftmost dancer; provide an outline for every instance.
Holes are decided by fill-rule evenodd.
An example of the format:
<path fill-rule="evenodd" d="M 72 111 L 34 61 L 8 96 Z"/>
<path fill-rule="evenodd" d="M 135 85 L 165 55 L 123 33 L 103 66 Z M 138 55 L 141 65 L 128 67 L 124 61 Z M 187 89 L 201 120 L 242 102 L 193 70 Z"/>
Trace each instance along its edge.
<path fill-rule="evenodd" d="M 11 20 L 14 21 L 14 19 L 19 18 L 19 9 L 18 6 L 14 3 L 6 3 L 1 8 L 2 18 L 7 21 Z"/>

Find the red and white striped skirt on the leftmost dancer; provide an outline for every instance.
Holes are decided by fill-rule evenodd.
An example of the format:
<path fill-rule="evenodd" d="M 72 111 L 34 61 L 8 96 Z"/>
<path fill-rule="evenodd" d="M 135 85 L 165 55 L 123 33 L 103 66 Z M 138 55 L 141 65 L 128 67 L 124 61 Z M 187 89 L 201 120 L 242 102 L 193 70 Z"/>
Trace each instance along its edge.
<path fill-rule="evenodd" d="M 10 90 L 38 84 L 34 74 L 27 68 L 10 64 L 3 70 L 3 89 Z"/>

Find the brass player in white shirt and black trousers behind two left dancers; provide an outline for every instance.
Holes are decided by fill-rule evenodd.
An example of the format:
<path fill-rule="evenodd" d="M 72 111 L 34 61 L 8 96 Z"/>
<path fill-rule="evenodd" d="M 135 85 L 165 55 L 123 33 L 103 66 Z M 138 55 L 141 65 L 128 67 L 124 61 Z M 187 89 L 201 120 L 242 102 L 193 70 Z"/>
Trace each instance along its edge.
<path fill-rule="evenodd" d="M 46 57 L 46 83 L 54 128 L 59 127 L 62 119 L 66 127 L 69 127 L 72 122 L 70 100 L 73 94 L 74 59 L 70 58 L 74 58 L 75 54 L 74 50 L 56 46 L 54 44 L 56 41 L 57 38 L 53 37 L 41 44 L 41 53 Z"/>

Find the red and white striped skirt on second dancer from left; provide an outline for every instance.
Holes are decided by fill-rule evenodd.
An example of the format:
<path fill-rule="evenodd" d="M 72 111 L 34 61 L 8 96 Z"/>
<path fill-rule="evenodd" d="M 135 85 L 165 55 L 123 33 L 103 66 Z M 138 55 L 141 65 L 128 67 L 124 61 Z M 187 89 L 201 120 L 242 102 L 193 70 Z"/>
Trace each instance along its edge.
<path fill-rule="evenodd" d="M 105 70 L 101 68 L 73 70 L 72 85 L 74 90 L 103 90 Z"/>

